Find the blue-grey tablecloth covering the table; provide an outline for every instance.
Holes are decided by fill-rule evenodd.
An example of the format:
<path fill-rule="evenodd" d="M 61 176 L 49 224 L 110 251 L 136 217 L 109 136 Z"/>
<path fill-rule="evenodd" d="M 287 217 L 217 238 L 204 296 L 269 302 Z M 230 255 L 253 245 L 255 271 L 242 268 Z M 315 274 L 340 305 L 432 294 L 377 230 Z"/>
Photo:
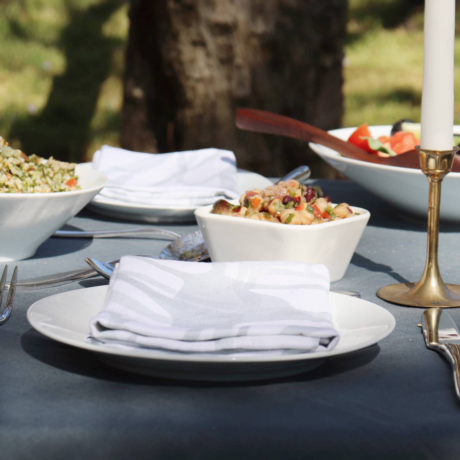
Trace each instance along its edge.
<path fill-rule="evenodd" d="M 380 286 L 420 279 L 426 222 L 352 182 L 319 184 L 333 201 L 372 214 L 345 277 L 331 289 L 360 291 L 391 311 L 396 328 L 390 336 L 282 380 L 161 380 L 105 366 L 29 325 L 26 311 L 36 300 L 104 283 L 100 278 L 18 292 L 11 320 L 0 326 L 0 459 L 459 459 L 460 404 L 449 365 L 426 348 L 417 327 L 423 310 L 375 295 Z M 133 226 L 148 225 L 83 211 L 67 228 Z M 86 256 L 158 255 L 167 244 L 52 238 L 17 265 L 25 278 L 84 266 Z M 442 224 L 445 282 L 460 283 L 459 258 L 460 224 Z M 460 309 L 449 313 L 460 325 Z"/>

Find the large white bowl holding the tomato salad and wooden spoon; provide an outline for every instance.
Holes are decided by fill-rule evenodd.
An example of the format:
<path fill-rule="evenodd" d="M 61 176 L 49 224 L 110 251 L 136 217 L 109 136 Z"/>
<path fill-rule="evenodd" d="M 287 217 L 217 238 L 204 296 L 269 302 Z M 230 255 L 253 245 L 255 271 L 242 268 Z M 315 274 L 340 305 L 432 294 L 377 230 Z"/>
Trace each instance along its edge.
<path fill-rule="evenodd" d="M 340 139 L 347 140 L 354 128 L 329 131 Z M 370 126 L 374 138 L 390 135 L 391 126 Z M 454 127 L 460 132 L 460 126 Z M 404 214 L 426 217 L 428 213 L 428 179 L 420 169 L 377 165 L 366 161 L 351 160 L 340 156 L 335 150 L 319 144 L 309 144 L 323 160 L 346 177 L 362 185 L 374 195 L 396 207 Z M 369 154 L 370 155 L 370 154 Z M 444 220 L 460 222 L 460 173 L 449 173 L 443 180 L 440 217 Z"/>

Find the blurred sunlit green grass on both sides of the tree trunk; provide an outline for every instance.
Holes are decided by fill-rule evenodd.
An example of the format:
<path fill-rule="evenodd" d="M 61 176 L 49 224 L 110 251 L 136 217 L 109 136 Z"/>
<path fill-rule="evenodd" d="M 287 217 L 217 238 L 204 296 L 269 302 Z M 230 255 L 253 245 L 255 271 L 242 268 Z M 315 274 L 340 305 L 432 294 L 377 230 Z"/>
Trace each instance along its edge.
<path fill-rule="evenodd" d="M 0 0 L 0 135 L 73 161 L 119 145 L 127 11 L 123 0 Z M 342 126 L 420 121 L 420 0 L 350 0 L 345 56 Z M 455 58 L 459 123 L 460 33 Z"/>

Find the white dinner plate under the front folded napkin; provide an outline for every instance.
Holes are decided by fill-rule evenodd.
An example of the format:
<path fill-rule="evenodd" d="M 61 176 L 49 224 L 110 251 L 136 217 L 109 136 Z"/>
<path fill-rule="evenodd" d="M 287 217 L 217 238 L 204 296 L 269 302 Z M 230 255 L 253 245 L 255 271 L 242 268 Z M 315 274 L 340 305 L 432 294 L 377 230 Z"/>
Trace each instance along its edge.
<path fill-rule="evenodd" d="M 27 318 L 40 333 L 68 345 L 96 353 L 116 368 L 180 380 L 261 380 L 300 374 L 326 358 L 360 350 L 391 333 L 395 318 L 379 305 L 344 294 L 329 293 L 334 326 L 341 337 L 328 352 L 282 356 L 166 354 L 155 350 L 117 350 L 85 340 L 89 321 L 102 310 L 107 286 L 59 293 L 31 305 Z"/>

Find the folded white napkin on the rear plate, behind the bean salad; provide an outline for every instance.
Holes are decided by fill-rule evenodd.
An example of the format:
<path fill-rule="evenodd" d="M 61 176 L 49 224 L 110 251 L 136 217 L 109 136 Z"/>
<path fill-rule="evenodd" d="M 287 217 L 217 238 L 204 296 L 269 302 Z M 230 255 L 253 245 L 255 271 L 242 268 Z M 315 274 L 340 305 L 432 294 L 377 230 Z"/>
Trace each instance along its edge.
<path fill-rule="evenodd" d="M 92 167 L 109 178 L 105 201 L 150 206 L 205 206 L 238 198 L 236 158 L 230 150 L 150 154 L 103 145 Z M 96 198 L 97 199 L 97 198 Z"/>

